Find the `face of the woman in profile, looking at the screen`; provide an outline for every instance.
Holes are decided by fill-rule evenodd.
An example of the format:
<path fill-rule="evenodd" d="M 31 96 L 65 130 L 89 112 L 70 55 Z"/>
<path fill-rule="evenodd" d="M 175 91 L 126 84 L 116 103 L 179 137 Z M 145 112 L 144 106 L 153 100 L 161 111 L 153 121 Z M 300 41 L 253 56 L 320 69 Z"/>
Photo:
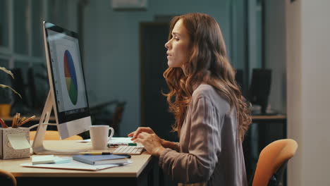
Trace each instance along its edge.
<path fill-rule="evenodd" d="M 167 64 L 169 67 L 181 67 L 188 61 L 190 39 L 187 30 L 180 19 L 176 22 L 172 30 L 172 38 L 166 42 Z"/>

